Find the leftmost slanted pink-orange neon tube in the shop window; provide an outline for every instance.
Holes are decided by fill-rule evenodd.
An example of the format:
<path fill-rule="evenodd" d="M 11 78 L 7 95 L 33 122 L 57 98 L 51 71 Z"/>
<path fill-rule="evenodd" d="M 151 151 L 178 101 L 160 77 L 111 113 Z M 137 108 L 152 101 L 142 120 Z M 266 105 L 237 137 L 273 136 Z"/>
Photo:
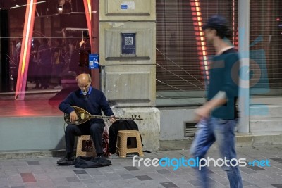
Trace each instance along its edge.
<path fill-rule="evenodd" d="M 30 44 L 32 41 L 33 25 L 35 23 L 35 10 L 37 0 L 27 0 L 25 12 L 25 26 L 23 28 L 22 48 L 20 50 L 20 62 L 18 66 L 18 80 L 15 99 L 25 99 L 25 86 L 27 80 L 28 64 L 30 62 Z"/>

